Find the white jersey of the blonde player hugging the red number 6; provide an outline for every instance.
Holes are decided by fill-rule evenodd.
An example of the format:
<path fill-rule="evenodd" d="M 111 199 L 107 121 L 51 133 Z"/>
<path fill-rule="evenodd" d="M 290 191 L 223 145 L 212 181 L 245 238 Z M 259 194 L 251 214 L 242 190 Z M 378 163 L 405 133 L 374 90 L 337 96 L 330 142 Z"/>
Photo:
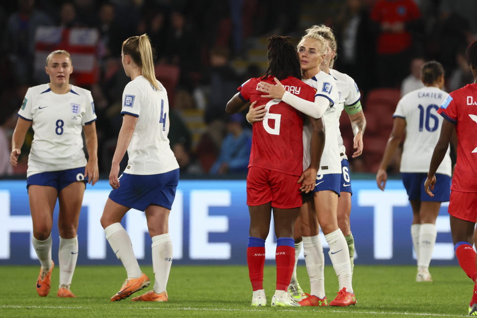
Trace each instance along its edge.
<path fill-rule="evenodd" d="M 341 173 L 341 159 L 338 149 L 339 128 L 335 114 L 337 109 L 334 107 L 335 101 L 338 100 L 336 81 L 331 75 L 322 71 L 313 78 L 304 79 L 303 81 L 317 90 L 316 96 L 326 97 L 330 103 L 330 106 L 322 116 L 326 136 L 318 174 Z M 307 169 L 311 163 L 310 142 L 312 133 L 313 127 L 307 118 L 303 125 L 303 169 Z"/>

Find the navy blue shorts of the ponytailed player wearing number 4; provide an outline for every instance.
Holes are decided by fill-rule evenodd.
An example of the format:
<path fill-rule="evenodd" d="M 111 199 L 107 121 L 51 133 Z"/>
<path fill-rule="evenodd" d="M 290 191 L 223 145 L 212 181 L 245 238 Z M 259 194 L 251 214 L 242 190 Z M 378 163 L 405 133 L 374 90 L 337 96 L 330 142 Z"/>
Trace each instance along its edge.
<path fill-rule="evenodd" d="M 139 211 L 145 211 L 151 204 L 170 210 L 178 182 L 179 169 L 146 175 L 123 172 L 119 176 L 119 188 L 111 190 L 109 198 Z"/>

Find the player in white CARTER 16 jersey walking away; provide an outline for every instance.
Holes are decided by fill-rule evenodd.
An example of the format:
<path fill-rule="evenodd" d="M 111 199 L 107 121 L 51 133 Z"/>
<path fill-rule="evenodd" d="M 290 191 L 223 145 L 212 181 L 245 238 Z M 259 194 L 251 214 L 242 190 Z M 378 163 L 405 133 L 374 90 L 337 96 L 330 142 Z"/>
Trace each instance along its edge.
<path fill-rule="evenodd" d="M 431 150 L 437 143 L 443 119 L 437 116 L 438 105 L 447 97 L 444 86 L 444 68 L 438 62 L 427 62 L 422 67 L 424 87 L 404 95 L 393 115 L 394 125 L 386 145 L 376 182 L 384 191 L 388 175 L 386 169 L 394 152 L 405 137 L 400 172 L 412 206 L 411 237 L 417 256 L 417 282 L 432 281 L 429 263 L 436 242 L 436 219 L 441 202 L 449 201 L 451 158 L 447 150 L 444 162 L 437 169 L 438 187 L 431 198 L 423 188 Z"/>

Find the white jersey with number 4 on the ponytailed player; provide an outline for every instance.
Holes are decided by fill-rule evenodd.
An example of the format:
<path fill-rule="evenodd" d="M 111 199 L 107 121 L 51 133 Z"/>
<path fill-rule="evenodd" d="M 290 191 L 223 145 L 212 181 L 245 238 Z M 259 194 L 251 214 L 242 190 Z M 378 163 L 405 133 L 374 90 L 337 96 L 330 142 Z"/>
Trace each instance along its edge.
<path fill-rule="evenodd" d="M 128 147 L 126 173 L 158 174 L 179 167 L 167 138 L 170 124 L 167 92 L 159 81 L 158 84 L 159 90 L 138 76 L 124 87 L 121 114 L 138 117 Z"/>

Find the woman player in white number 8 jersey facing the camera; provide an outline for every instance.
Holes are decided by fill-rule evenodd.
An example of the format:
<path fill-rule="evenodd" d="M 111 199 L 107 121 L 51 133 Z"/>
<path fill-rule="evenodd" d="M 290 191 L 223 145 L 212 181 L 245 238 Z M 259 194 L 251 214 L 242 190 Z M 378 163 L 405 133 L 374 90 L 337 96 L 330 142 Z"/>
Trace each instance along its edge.
<path fill-rule="evenodd" d="M 76 297 L 70 285 L 78 258 L 79 211 L 86 182 L 94 185 L 98 180 L 96 115 L 90 91 L 70 85 L 73 73 L 70 53 L 51 52 L 46 58 L 45 71 L 50 82 L 28 88 L 18 111 L 10 162 L 13 166 L 18 164 L 26 132 L 33 124 L 26 186 L 33 221 L 31 241 L 41 263 L 36 291 L 42 297 L 50 292 L 54 266 L 51 228 L 58 198 L 60 286 L 57 296 Z M 81 130 L 86 141 L 87 161 Z"/>

